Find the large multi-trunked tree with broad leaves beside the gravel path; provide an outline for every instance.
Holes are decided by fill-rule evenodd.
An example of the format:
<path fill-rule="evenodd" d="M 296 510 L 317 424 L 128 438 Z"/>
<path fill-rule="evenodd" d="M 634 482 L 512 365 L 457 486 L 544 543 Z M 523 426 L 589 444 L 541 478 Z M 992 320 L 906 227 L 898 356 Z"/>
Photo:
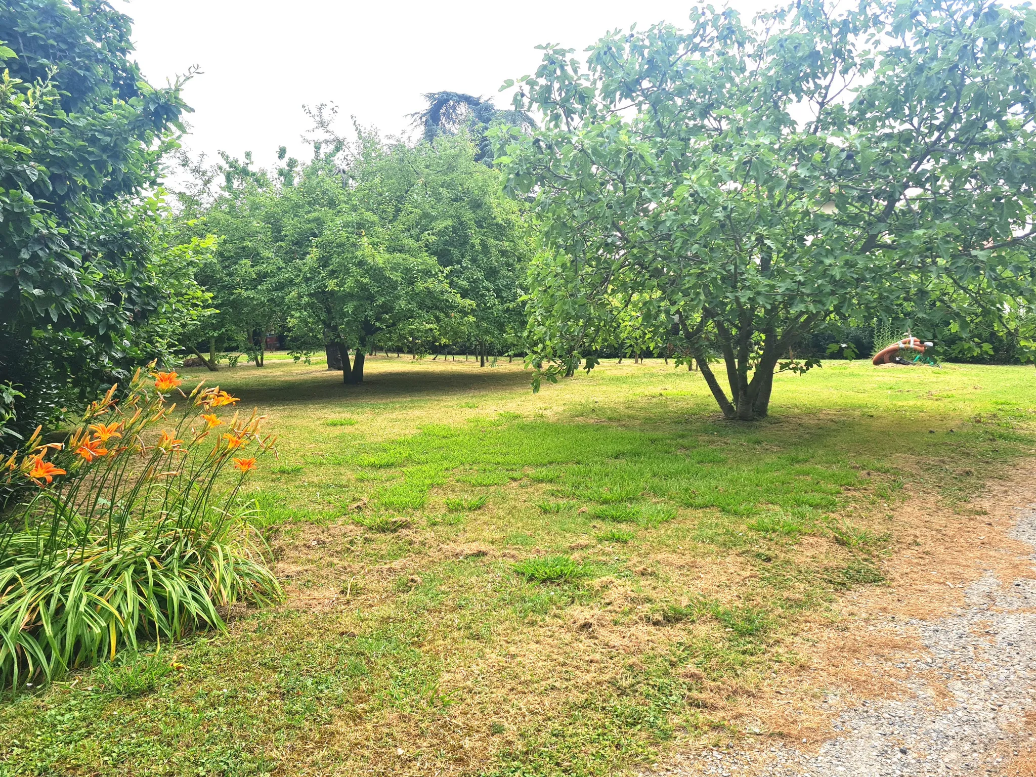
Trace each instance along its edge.
<path fill-rule="evenodd" d="M 1036 301 L 1034 13 L 810 0 L 745 25 L 710 6 L 686 32 L 610 33 L 585 63 L 545 47 L 515 98 L 545 127 L 497 131 L 496 160 L 535 195 L 540 374 L 592 368 L 637 316 L 748 420 L 833 320 L 1016 330 Z"/>

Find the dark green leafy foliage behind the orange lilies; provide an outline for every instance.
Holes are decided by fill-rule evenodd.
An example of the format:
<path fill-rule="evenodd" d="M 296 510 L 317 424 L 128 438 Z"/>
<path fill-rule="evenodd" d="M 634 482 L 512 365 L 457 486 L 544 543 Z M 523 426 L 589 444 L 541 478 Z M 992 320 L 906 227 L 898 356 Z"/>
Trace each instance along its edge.
<path fill-rule="evenodd" d="M 107 3 L 5 2 L 0 36 L 0 382 L 25 395 L 8 420 L 24 436 L 127 376 L 150 347 L 138 327 L 202 300 L 178 261 L 165 275 L 143 196 L 190 110 L 183 80 L 149 86 Z"/>

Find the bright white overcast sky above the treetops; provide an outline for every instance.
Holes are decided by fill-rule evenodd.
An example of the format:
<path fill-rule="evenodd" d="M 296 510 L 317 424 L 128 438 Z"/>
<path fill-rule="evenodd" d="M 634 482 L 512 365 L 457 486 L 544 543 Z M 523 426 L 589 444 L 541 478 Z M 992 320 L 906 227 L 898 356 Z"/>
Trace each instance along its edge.
<path fill-rule="evenodd" d="M 186 147 L 210 157 L 251 150 L 262 165 L 279 145 L 305 159 L 303 105 L 335 103 L 384 135 L 408 126 L 424 92 L 494 96 L 505 79 L 536 70 L 539 44 L 581 51 L 609 29 L 683 26 L 686 0 L 115 0 L 134 23 L 136 58 L 154 85 L 192 64 L 195 113 Z M 776 0 L 731 0 L 751 17 Z M 722 2 L 717 2 L 717 6 Z"/>

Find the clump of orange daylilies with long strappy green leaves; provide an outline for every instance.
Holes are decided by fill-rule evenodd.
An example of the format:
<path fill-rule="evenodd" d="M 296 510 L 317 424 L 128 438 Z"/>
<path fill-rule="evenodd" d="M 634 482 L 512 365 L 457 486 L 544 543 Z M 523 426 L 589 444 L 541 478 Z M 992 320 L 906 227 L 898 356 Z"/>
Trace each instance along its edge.
<path fill-rule="evenodd" d="M 113 386 L 64 443 L 38 444 L 37 430 L 2 462 L 0 690 L 222 629 L 235 602 L 281 596 L 238 498 L 250 449 L 274 439 L 255 413 L 220 419 L 237 400 L 219 387 L 183 394 L 176 373 L 152 375 L 121 399 Z M 221 480 L 231 464 L 238 477 Z"/>

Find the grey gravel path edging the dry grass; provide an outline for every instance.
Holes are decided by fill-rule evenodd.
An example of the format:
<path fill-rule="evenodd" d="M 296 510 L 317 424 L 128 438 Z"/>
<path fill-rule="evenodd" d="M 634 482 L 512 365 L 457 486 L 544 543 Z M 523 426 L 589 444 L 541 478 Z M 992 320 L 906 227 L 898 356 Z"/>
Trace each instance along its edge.
<path fill-rule="evenodd" d="M 1036 550 L 1036 510 L 1020 514 L 1011 536 Z M 843 713 L 834 725 L 842 733 L 816 753 L 789 746 L 754 754 L 707 750 L 651 774 L 996 775 L 1003 758 L 1033 747 L 1033 737 L 1019 727 L 1025 713 L 1036 708 L 1036 580 L 1004 583 L 989 573 L 968 588 L 966 606 L 954 614 L 897 628 L 916 630 L 929 652 L 897 664 L 918 675 L 910 684 L 915 695 Z M 925 677 L 946 682 L 952 698 L 937 699 Z"/>

